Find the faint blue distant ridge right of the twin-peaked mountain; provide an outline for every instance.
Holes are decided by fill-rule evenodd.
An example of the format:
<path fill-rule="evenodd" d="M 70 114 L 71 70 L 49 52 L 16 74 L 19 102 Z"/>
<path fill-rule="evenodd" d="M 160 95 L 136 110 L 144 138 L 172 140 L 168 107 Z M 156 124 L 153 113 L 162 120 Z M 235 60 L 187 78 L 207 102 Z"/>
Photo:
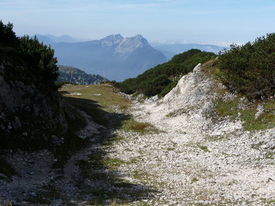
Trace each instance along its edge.
<path fill-rule="evenodd" d="M 228 49 L 228 47 L 220 47 L 216 45 L 199 45 L 199 44 L 164 44 L 164 43 L 151 43 L 151 45 L 162 52 L 166 58 L 170 59 L 176 54 L 186 52 L 189 49 L 199 49 L 205 52 L 213 52 L 218 54 L 219 51 Z"/>

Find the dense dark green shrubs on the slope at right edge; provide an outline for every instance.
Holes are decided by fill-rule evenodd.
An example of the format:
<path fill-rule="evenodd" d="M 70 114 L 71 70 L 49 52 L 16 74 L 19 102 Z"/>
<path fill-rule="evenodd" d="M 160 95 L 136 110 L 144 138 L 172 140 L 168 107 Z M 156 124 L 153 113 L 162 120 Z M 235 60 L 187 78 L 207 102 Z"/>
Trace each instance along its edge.
<path fill-rule="evenodd" d="M 219 78 L 230 91 L 250 100 L 275 94 L 275 33 L 219 54 Z"/>

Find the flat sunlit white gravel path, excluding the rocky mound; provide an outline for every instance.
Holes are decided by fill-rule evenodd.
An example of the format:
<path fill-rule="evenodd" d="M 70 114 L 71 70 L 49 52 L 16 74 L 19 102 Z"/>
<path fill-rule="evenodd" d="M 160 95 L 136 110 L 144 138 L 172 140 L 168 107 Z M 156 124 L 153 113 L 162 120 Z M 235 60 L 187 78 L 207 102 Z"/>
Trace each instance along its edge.
<path fill-rule="evenodd" d="M 202 119 L 181 115 L 156 121 L 152 111 L 152 104 L 135 104 L 132 113 L 153 122 L 157 133 L 118 130 L 123 139 L 109 152 L 125 162 L 118 170 L 127 179 L 155 188 L 150 205 L 275 205 L 274 159 L 268 150 L 252 148 L 259 134 L 239 129 L 211 136 L 201 129 Z"/>

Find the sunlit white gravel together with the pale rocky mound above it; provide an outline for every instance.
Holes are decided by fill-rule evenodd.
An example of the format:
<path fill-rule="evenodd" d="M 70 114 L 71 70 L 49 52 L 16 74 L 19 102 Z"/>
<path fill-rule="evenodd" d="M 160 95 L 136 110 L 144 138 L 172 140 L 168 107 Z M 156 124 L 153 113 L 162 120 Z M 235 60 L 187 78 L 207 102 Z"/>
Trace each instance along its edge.
<path fill-rule="evenodd" d="M 119 170 L 128 179 L 157 190 L 150 205 L 275 205 L 274 128 L 250 133 L 239 121 L 211 122 L 203 114 L 214 85 L 200 69 L 163 100 L 136 103 L 131 114 L 159 132 L 118 130 L 124 138 L 110 157 L 127 161 Z"/>

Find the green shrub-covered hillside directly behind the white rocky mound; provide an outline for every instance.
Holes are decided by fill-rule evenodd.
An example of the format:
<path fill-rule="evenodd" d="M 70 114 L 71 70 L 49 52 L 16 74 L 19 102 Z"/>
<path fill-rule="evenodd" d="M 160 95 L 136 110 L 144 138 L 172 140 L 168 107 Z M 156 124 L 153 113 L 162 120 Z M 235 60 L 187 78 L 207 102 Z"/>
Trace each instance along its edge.
<path fill-rule="evenodd" d="M 175 55 L 162 65 L 148 69 L 137 78 L 113 83 L 115 87 L 118 87 L 124 93 L 144 93 L 148 97 L 153 95 L 164 96 L 175 87 L 180 76 L 192 71 L 198 63 L 206 62 L 215 56 L 212 52 L 190 49 L 187 52 Z"/>

